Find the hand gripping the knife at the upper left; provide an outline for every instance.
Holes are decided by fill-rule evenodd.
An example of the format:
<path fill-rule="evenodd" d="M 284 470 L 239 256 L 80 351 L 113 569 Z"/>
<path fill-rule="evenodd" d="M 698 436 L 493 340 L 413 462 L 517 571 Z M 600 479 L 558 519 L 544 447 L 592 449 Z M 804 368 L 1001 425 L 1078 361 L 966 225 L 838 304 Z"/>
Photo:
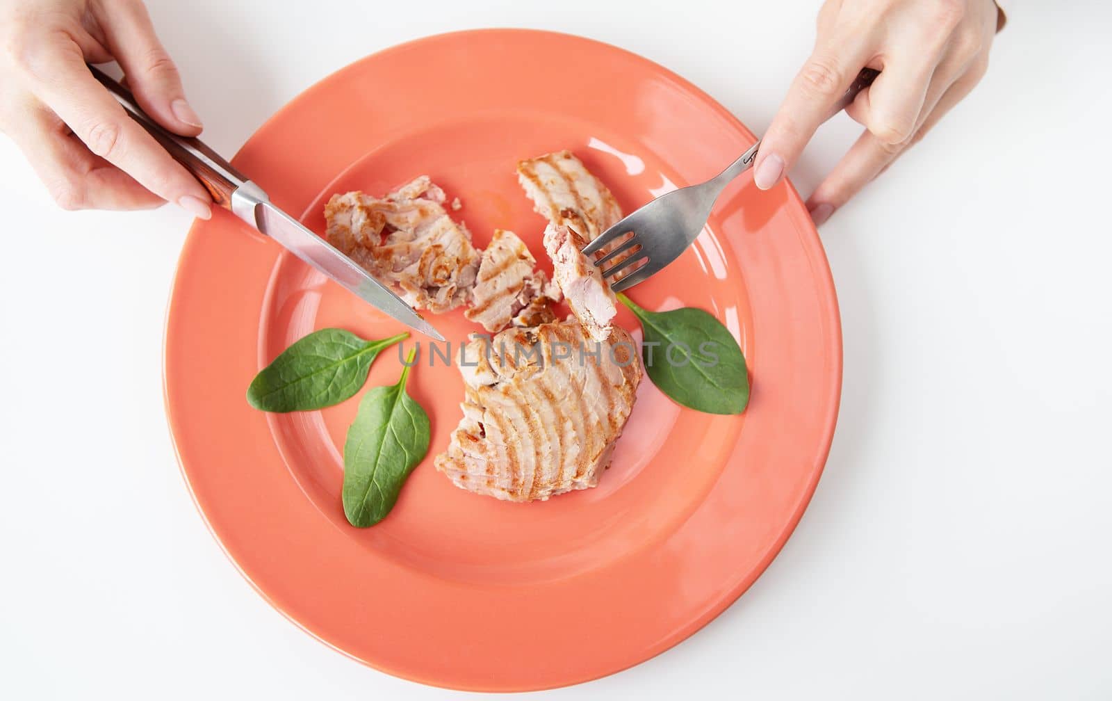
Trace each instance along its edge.
<path fill-rule="evenodd" d="M 178 70 L 139 0 L 0 0 L 0 130 L 66 209 L 163 200 L 211 216 L 208 191 L 89 72 L 116 59 L 143 110 L 197 136 Z"/>

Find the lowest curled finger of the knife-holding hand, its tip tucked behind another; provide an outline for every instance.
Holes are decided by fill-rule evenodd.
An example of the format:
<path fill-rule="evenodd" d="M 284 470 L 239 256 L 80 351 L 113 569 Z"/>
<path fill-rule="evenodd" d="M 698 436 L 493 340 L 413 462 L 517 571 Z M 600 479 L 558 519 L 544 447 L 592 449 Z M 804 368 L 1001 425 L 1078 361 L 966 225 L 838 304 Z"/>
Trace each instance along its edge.
<path fill-rule="evenodd" d="M 12 139 L 63 209 L 148 209 L 162 204 L 126 172 L 93 156 L 46 107 L 27 106 L 17 120 Z"/>

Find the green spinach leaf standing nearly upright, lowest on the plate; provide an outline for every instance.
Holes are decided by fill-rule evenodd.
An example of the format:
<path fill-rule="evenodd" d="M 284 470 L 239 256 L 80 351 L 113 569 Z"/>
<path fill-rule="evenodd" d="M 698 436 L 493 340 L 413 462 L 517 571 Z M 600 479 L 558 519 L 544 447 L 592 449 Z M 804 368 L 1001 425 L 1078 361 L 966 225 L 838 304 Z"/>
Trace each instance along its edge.
<path fill-rule="evenodd" d="M 413 364 L 416 348 L 409 352 Z M 406 477 L 430 441 L 428 414 L 406 394 L 409 365 L 393 387 L 375 387 L 359 402 L 359 412 L 344 443 L 344 515 L 365 529 L 386 517 L 398 501 Z"/>

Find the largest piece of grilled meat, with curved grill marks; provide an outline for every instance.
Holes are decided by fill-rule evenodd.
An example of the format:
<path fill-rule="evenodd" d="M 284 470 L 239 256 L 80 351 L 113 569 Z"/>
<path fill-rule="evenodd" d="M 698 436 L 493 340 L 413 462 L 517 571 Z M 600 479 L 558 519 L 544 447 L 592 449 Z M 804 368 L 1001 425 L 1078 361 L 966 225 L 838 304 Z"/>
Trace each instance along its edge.
<path fill-rule="evenodd" d="M 461 488 L 514 502 L 598 483 L 642 377 L 627 332 L 596 344 L 569 318 L 474 338 L 464 357 L 474 364 L 460 365 L 464 418 L 437 470 Z"/>

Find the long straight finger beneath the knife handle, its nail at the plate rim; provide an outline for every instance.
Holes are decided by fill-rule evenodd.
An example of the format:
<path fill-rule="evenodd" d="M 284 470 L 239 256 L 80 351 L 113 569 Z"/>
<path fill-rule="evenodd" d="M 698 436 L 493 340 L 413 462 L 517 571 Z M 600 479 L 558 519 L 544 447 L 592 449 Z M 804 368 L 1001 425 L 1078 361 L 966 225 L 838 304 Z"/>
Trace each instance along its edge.
<path fill-rule="evenodd" d="M 36 57 L 31 78 L 36 96 L 69 125 L 90 151 L 162 199 L 177 203 L 195 216 L 211 216 L 208 191 L 127 116 L 89 72 L 77 45 L 44 47 Z"/>

